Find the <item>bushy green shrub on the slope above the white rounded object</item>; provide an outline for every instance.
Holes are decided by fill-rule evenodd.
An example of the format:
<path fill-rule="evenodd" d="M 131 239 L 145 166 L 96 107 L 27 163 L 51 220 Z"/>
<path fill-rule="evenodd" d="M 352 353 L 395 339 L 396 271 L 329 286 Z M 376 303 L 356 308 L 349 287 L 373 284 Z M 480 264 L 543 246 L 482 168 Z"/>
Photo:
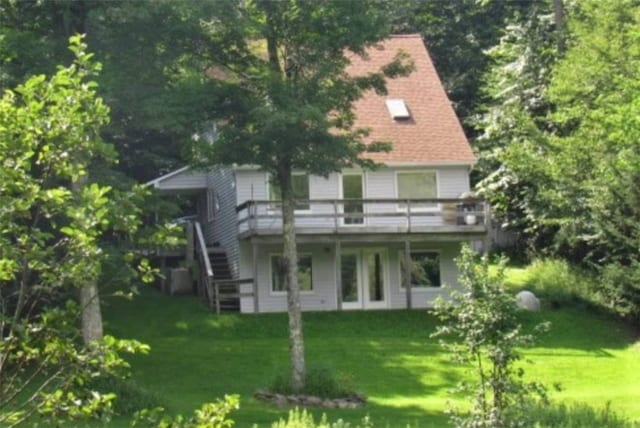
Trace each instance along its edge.
<path fill-rule="evenodd" d="M 597 301 L 593 278 L 564 260 L 534 260 L 527 268 L 526 286 L 551 307 Z"/>

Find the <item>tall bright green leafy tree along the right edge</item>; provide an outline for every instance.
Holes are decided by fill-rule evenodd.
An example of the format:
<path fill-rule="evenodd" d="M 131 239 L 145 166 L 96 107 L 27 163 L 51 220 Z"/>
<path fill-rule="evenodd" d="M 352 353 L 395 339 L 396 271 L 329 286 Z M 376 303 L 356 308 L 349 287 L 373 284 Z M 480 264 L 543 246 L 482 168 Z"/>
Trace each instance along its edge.
<path fill-rule="evenodd" d="M 547 200 L 569 244 L 601 270 L 607 303 L 637 320 L 640 5 L 584 1 L 568 24 L 570 43 L 549 89 L 560 132 Z"/>

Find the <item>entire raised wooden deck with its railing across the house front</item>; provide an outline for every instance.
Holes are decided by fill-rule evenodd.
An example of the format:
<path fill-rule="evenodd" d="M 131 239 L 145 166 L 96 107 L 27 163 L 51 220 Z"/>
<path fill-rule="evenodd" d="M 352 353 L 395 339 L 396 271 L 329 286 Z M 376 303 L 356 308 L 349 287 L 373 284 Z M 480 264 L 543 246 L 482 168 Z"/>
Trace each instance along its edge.
<path fill-rule="evenodd" d="M 489 230 L 489 204 L 481 199 L 330 199 L 297 201 L 298 240 L 406 241 L 481 239 Z M 240 239 L 277 241 L 278 201 L 247 201 L 236 209 Z"/>

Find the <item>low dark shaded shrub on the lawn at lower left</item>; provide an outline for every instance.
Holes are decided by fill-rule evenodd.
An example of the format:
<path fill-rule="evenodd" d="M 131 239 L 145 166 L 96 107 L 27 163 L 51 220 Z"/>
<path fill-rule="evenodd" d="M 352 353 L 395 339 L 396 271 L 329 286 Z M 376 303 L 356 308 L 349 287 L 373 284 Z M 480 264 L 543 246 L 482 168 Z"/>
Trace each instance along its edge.
<path fill-rule="evenodd" d="M 116 398 L 113 410 L 119 415 L 133 415 L 138 410 L 151 409 L 161 405 L 158 395 L 149 391 L 130 379 L 117 377 L 101 377 L 88 385 L 102 393 L 113 393 Z"/>

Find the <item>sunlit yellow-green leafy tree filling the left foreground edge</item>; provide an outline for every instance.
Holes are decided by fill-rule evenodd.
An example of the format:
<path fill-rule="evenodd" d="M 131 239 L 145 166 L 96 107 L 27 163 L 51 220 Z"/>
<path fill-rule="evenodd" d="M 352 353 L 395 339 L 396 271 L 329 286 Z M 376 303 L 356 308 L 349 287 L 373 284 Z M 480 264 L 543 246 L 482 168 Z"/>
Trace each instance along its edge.
<path fill-rule="evenodd" d="M 87 382 L 126 366 L 117 351 L 141 349 L 112 337 L 78 340 L 85 312 L 71 293 L 100 274 L 100 237 L 132 229 L 110 190 L 72 183 L 99 158 L 113 159 L 99 129 L 108 108 L 96 96 L 79 37 L 74 63 L 34 76 L 0 98 L 0 424 L 38 413 L 47 422 L 106 415 L 111 395 Z M 100 335 L 101 336 L 101 335 Z"/>

